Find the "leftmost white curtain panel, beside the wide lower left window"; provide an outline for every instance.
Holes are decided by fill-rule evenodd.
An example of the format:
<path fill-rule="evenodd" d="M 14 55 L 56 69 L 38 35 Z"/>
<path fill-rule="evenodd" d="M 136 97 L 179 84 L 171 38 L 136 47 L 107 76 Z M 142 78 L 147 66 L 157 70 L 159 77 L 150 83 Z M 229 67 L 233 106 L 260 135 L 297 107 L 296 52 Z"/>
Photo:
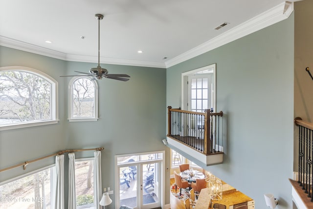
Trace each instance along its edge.
<path fill-rule="evenodd" d="M 55 209 L 64 209 L 64 155 L 55 157 Z"/>

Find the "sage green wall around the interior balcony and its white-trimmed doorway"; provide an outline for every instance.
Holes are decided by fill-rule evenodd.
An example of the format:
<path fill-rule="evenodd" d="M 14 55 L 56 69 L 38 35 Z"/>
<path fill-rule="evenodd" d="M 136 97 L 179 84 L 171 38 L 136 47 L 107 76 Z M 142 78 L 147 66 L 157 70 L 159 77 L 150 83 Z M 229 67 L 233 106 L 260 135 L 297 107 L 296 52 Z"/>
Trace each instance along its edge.
<path fill-rule="evenodd" d="M 181 73 L 217 64 L 224 163 L 206 170 L 267 208 L 291 209 L 294 16 L 167 69 L 166 105 L 181 105 Z M 192 156 L 187 156 L 201 164 Z"/>

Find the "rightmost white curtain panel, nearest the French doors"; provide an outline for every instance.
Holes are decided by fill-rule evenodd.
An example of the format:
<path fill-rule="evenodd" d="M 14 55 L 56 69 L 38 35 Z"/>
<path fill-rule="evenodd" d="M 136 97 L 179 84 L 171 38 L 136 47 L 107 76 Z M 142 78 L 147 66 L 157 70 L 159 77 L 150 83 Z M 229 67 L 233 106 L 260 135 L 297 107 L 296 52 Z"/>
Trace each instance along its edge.
<path fill-rule="evenodd" d="M 101 209 L 102 206 L 99 205 L 99 202 L 102 197 L 102 185 L 101 185 L 101 151 L 94 152 L 94 164 L 93 164 L 93 186 L 95 186 L 94 191 L 94 203 L 95 209 Z"/>

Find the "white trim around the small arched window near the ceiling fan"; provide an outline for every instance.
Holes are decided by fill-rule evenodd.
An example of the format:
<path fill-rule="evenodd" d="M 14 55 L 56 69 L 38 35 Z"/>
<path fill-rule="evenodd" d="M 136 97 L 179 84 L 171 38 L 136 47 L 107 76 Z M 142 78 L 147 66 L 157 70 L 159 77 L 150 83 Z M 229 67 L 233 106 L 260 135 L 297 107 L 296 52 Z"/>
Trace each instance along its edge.
<path fill-rule="evenodd" d="M 72 92 L 72 85 L 73 83 L 80 79 L 80 78 L 86 78 L 93 82 L 94 84 L 94 117 L 80 117 L 80 118 L 73 118 L 72 117 L 72 111 L 73 111 L 73 92 Z M 95 80 L 91 80 L 89 76 L 76 76 L 73 77 L 68 84 L 68 121 L 69 122 L 88 122 L 88 121 L 97 121 L 99 119 L 98 117 L 98 83 Z"/>

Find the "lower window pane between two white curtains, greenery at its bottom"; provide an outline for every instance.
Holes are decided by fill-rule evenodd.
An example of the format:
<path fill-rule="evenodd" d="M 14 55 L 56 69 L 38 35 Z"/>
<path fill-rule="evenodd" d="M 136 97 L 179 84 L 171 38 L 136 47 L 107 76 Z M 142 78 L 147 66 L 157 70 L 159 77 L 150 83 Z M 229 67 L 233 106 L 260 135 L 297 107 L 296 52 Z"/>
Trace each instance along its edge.
<path fill-rule="evenodd" d="M 75 162 L 76 206 L 93 206 L 93 161 Z"/>

